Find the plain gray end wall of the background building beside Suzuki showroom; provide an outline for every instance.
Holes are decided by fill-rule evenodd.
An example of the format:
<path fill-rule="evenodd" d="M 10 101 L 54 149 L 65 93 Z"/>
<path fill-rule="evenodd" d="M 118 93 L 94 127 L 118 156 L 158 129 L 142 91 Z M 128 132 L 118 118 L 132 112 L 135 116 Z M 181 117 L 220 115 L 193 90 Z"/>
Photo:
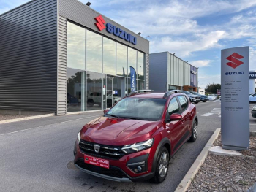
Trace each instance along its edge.
<path fill-rule="evenodd" d="M 164 92 L 167 83 L 167 52 L 149 55 L 149 88 Z"/>

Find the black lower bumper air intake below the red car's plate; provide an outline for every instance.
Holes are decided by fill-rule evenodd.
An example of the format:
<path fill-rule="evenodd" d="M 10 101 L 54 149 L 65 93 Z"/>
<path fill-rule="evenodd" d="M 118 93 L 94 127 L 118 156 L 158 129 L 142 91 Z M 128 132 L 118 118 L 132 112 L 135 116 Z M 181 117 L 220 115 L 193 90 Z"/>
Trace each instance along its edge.
<path fill-rule="evenodd" d="M 117 177 L 117 178 L 128 178 L 127 174 L 124 174 L 124 172 L 121 171 L 116 166 L 110 166 L 110 169 L 106 169 L 100 166 L 94 166 L 91 164 L 86 164 L 84 163 L 83 159 L 79 158 L 78 161 L 75 163 L 77 164 L 80 168 L 89 170 L 91 172 L 96 172 L 99 174 L 104 174 L 110 177 Z"/>

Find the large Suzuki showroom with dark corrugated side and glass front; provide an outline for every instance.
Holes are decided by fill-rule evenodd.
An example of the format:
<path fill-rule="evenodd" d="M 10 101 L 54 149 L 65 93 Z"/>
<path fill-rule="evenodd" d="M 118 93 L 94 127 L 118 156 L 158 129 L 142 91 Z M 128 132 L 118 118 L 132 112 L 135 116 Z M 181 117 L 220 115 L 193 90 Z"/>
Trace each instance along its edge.
<path fill-rule="evenodd" d="M 131 91 L 130 66 L 136 88 L 149 85 L 148 40 L 77 0 L 34 0 L 5 12 L 0 42 L 0 112 L 105 109 Z"/>

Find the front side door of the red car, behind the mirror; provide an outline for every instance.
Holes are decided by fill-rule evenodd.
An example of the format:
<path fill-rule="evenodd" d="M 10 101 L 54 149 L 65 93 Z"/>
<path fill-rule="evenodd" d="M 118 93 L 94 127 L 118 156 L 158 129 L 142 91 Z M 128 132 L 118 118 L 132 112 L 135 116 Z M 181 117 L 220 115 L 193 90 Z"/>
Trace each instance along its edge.
<path fill-rule="evenodd" d="M 170 121 L 170 115 L 173 113 L 181 114 L 181 107 L 176 97 L 170 100 L 165 117 L 167 137 L 170 139 L 171 151 L 175 153 L 178 149 L 178 145 L 181 143 L 181 137 L 183 135 L 181 131 L 184 130 L 184 123 L 182 123 L 183 119 Z"/>

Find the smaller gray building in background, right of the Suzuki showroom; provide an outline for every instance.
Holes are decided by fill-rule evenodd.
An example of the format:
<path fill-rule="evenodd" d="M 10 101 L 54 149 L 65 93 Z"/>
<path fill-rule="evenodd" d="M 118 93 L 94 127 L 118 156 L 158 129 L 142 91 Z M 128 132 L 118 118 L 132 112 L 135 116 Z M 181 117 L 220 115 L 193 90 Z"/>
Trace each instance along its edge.
<path fill-rule="evenodd" d="M 198 68 L 169 52 L 149 55 L 149 87 L 157 92 L 167 90 L 196 91 Z"/>

